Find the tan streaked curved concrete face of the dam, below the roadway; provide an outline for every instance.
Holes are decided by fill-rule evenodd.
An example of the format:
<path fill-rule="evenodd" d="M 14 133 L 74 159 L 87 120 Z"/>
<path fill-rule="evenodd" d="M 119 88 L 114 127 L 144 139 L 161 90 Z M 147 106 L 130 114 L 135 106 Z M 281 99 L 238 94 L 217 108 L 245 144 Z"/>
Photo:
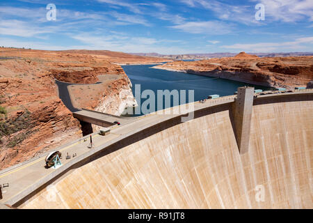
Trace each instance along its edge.
<path fill-rule="evenodd" d="M 313 208 L 313 101 L 253 106 L 239 154 L 229 107 L 69 171 L 19 208 Z"/>

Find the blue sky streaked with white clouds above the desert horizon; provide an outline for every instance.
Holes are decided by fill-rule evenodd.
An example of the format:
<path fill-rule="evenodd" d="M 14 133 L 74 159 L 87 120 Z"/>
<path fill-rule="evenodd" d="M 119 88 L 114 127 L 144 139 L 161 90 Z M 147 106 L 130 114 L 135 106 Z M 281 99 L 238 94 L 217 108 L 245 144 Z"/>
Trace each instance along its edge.
<path fill-rule="evenodd" d="M 47 20 L 48 3 L 56 20 Z M 255 20 L 258 3 L 265 20 Z M 0 45 L 188 54 L 313 52 L 313 0 L 6 0 Z"/>

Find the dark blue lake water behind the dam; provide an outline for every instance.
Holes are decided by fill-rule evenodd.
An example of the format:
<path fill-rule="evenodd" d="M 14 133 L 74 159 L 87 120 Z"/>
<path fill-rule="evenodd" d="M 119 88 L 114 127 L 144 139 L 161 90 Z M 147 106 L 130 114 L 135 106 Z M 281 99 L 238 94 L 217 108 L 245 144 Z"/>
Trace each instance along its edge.
<path fill-rule="evenodd" d="M 194 100 L 202 100 L 208 95 L 233 95 L 240 86 L 254 86 L 255 89 L 268 90 L 264 86 L 256 86 L 242 82 L 234 82 L 227 79 L 219 79 L 214 77 L 204 77 L 200 75 L 191 75 L 184 72 L 172 72 L 168 70 L 159 70 L 151 68 L 155 65 L 127 65 L 122 66 L 127 76 L 131 80 L 132 90 L 135 95 L 135 84 L 141 84 L 141 92 L 146 89 L 157 90 L 194 90 Z M 188 102 L 188 97 L 186 97 Z M 144 102 L 145 98 L 141 99 Z M 156 98 L 157 104 L 157 98 Z M 172 102 L 171 105 L 172 106 Z M 157 108 L 157 105 L 156 105 Z M 166 108 L 165 106 L 163 108 Z"/>

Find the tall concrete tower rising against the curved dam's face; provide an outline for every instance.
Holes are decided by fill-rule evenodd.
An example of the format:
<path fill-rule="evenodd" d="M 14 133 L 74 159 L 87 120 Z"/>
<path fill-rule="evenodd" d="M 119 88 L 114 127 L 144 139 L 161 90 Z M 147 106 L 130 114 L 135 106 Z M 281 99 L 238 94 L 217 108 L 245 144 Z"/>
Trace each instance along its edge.
<path fill-rule="evenodd" d="M 240 87 L 234 104 L 234 132 L 240 153 L 248 152 L 249 148 L 254 90 L 253 87 Z"/>

